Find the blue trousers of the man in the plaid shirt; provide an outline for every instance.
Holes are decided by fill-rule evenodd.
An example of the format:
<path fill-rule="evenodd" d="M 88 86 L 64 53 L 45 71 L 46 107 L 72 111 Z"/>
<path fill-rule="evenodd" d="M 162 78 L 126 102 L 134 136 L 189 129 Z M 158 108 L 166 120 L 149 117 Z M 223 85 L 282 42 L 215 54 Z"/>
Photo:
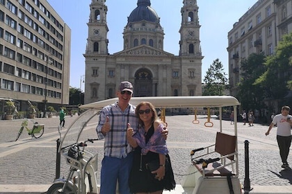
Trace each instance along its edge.
<path fill-rule="evenodd" d="M 120 194 L 131 194 L 129 174 L 133 164 L 133 152 L 125 158 L 104 157 L 100 173 L 100 194 L 115 194 L 117 182 Z"/>

